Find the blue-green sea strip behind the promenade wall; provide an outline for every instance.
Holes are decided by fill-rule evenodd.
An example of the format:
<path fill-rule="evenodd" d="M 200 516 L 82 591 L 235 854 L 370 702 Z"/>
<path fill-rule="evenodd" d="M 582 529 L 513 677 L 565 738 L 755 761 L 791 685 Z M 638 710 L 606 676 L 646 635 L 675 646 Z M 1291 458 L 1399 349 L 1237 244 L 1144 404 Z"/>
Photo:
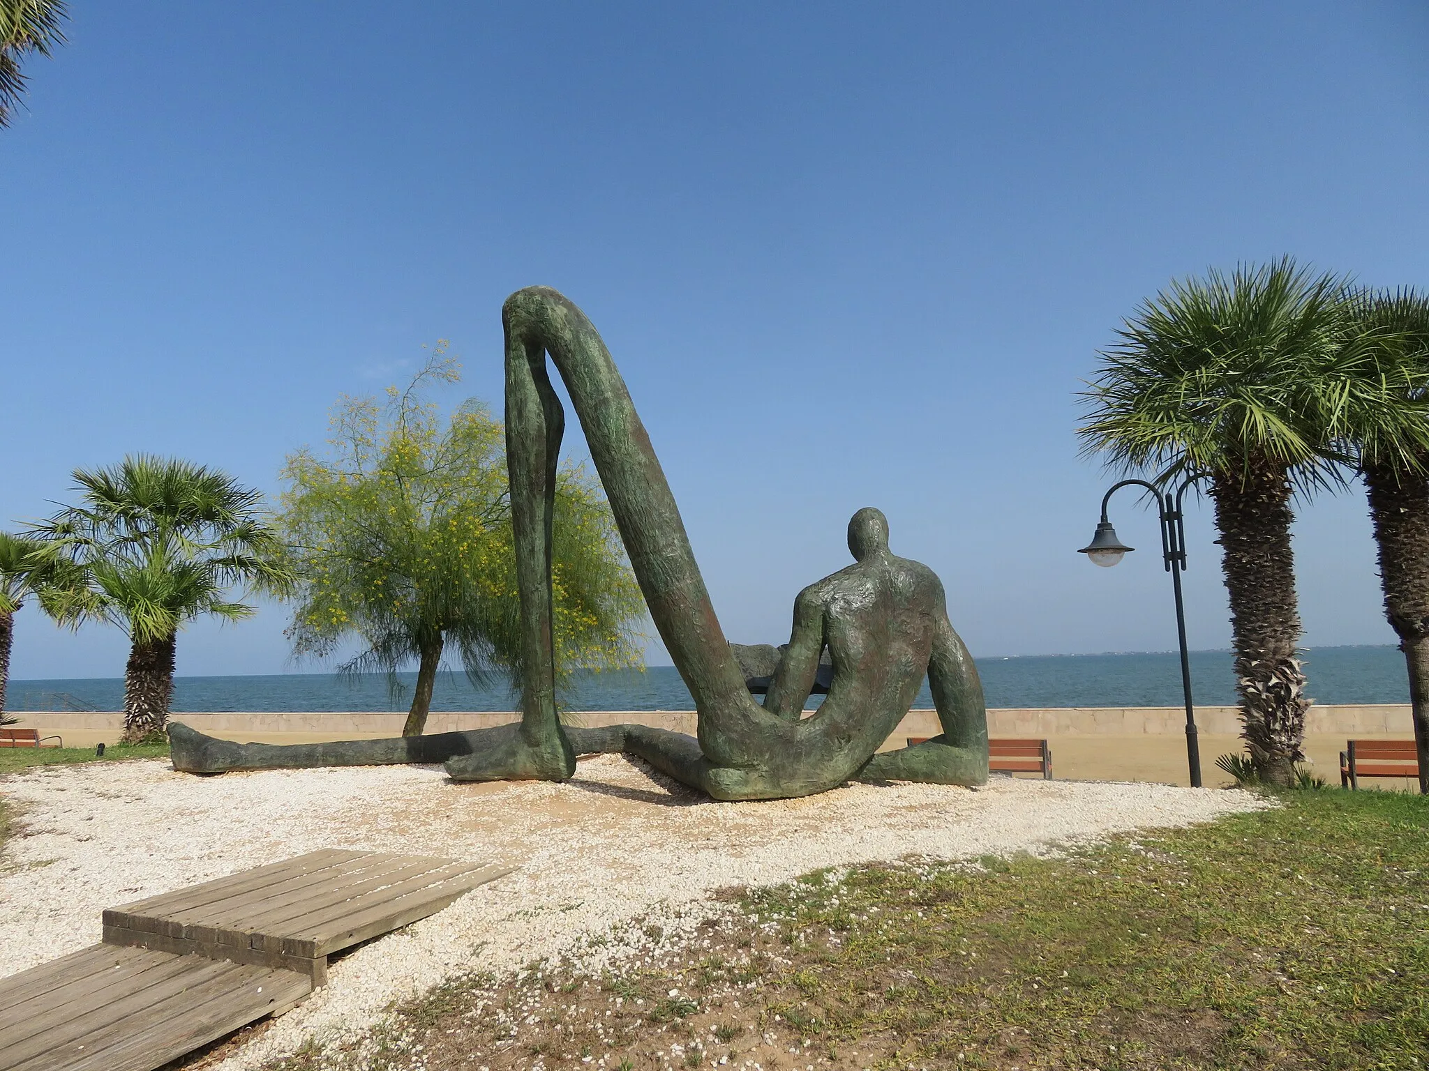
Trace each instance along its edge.
<path fill-rule="evenodd" d="M 1396 647 L 1313 647 L 1305 651 L 1309 694 L 1319 703 L 1408 703 L 1405 660 Z M 989 707 L 1179 707 L 1180 658 L 1175 651 L 1130 654 L 1057 654 L 977 658 Z M 1235 704 L 1229 651 L 1190 654 L 1198 705 Z M 346 677 L 289 673 L 250 677 L 179 677 L 174 711 L 387 711 L 406 710 L 414 673 L 399 674 L 396 688 L 384 675 Z M 9 710 L 121 710 L 124 681 L 11 680 Z M 813 695 L 809 707 L 822 700 Z M 673 665 L 644 670 L 576 673 L 559 697 L 564 710 L 693 710 L 690 693 Z M 443 673 L 433 710 L 513 710 L 514 697 L 500 678 L 474 683 L 464 673 Z M 932 707 L 925 681 L 915 707 Z"/>

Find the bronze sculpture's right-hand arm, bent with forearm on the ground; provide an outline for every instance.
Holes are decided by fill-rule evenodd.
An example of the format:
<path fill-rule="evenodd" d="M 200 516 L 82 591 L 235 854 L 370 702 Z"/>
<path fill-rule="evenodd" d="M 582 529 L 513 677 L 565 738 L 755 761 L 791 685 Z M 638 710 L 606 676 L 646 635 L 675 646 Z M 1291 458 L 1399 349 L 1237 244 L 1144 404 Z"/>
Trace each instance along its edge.
<path fill-rule="evenodd" d="M 882 751 L 859 770 L 859 781 L 925 784 L 987 783 L 987 714 L 982 681 L 962 637 L 943 615 L 935 625 L 927 684 L 942 735 L 897 751 Z"/>

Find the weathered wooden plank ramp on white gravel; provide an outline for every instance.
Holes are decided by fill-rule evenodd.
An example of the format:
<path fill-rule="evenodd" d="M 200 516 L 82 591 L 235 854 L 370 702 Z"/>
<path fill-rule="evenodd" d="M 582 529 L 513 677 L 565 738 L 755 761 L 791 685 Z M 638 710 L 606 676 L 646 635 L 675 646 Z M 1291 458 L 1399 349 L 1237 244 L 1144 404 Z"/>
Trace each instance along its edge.
<path fill-rule="evenodd" d="M 0 1071 L 153 1071 L 327 981 L 327 957 L 509 867 L 314 851 L 104 911 L 104 944 L 0 980 Z"/>

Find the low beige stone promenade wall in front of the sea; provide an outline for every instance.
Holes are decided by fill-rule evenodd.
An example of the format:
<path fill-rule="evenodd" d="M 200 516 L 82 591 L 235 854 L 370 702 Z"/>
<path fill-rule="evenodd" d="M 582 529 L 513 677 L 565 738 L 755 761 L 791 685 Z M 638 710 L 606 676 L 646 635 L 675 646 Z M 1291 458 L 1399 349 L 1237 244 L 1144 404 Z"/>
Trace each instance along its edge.
<path fill-rule="evenodd" d="M 104 711 L 10 711 L 23 718 L 21 725 L 64 730 L 120 731 L 123 714 Z M 427 733 L 484 728 L 513 721 L 514 714 L 459 714 L 433 711 L 427 718 Z M 233 733 L 323 733 L 323 734 L 380 734 L 397 735 L 406 713 L 263 713 L 263 714 L 183 714 L 174 721 L 193 725 L 200 733 L 229 735 Z M 573 715 L 582 725 L 614 725 L 640 723 L 677 733 L 694 733 L 693 711 L 586 711 Z M 1235 707 L 1196 707 L 1196 724 L 1202 733 L 1235 735 L 1240 731 Z M 995 737 L 1086 737 L 1086 735 L 1155 735 L 1182 734 L 1186 711 L 1182 707 L 1043 707 L 1032 710 L 989 710 L 987 730 Z M 937 715 L 930 710 L 909 711 L 893 737 L 930 737 L 937 734 Z M 1399 733 L 1409 735 L 1408 704 L 1383 705 L 1313 705 L 1306 731 L 1326 735 L 1370 735 Z"/>

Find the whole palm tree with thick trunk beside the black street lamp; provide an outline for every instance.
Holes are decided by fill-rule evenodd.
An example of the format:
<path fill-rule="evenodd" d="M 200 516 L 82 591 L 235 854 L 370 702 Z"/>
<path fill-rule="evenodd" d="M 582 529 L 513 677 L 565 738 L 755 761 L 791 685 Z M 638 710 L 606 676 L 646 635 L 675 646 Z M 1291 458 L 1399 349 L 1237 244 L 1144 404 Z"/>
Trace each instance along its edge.
<path fill-rule="evenodd" d="M 1159 478 L 1199 473 L 1216 510 L 1230 595 L 1242 735 L 1258 775 L 1290 784 L 1303 758 L 1305 673 L 1290 523 L 1296 491 L 1336 478 L 1326 443 L 1360 411 L 1373 340 L 1343 280 L 1285 257 L 1173 281 L 1102 354 L 1089 454 Z"/>

